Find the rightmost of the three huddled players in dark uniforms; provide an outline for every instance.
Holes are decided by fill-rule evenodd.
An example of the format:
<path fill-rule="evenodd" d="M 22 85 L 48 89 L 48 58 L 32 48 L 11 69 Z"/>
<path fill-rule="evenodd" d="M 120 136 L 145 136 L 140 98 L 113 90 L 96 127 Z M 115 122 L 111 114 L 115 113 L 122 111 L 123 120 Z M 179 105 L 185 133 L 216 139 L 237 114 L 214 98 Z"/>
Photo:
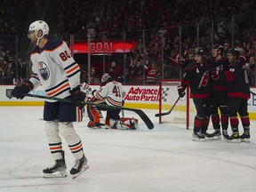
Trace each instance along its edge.
<path fill-rule="evenodd" d="M 250 139 L 250 119 L 248 116 L 247 100 L 250 99 L 250 85 L 245 66 L 239 62 L 240 52 L 237 49 L 228 51 L 228 71 L 220 72 L 228 82 L 228 116 L 233 134 L 228 141 L 248 142 Z M 237 115 L 241 117 L 244 133 L 239 136 Z M 240 140 L 239 140 L 240 139 Z"/>

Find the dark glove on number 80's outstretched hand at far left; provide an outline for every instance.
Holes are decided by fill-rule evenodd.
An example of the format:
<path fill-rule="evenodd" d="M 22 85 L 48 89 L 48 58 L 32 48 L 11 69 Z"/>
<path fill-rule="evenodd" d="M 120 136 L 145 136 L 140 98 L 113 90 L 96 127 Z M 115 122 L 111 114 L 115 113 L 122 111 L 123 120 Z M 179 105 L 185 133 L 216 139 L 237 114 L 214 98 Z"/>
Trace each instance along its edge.
<path fill-rule="evenodd" d="M 30 81 L 25 81 L 21 84 L 17 84 L 12 90 L 12 97 L 22 100 L 24 98 L 24 94 L 27 94 L 33 88 L 34 85 Z"/>

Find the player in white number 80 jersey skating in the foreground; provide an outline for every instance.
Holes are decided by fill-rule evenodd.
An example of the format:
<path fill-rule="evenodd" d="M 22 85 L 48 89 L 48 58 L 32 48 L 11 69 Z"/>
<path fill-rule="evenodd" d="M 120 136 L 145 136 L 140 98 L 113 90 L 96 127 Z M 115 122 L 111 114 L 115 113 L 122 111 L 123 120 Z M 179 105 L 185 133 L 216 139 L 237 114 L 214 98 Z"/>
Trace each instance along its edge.
<path fill-rule="evenodd" d="M 14 87 L 12 96 L 22 100 L 24 93 L 35 90 L 42 84 L 47 96 L 74 100 L 79 104 L 85 97 L 84 93 L 80 92 L 80 68 L 71 57 L 67 44 L 61 40 L 48 39 L 48 34 L 49 27 L 43 20 L 36 20 L 30 24 L 28 38 L 32 44 L 36 44 L 30 57 L 33 74 L 29 80 Z M 80 113 L 76 104 L 45 100 L 44 132 L 54 164 L 43 170 L 44 178 L 67 176 L 60 135 L 67 141 L 68 148 L 76 159 L 70 170 L 72 178 L 76 178 L 88 168 L 82 141 L 72 124 Z"/>

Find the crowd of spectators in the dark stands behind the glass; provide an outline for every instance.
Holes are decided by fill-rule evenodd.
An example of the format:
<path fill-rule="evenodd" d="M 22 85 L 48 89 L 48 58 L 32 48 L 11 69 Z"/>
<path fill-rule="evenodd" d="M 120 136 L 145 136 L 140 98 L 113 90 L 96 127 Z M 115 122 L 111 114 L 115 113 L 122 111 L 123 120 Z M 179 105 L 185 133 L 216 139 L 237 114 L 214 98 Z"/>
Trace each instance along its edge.
<path fill-rule="evenodd" d="M 0 26 L 4 32 L 1 34 L 24 31 L 24 20 L 20 15 L 31 1 L 3 2 L 0 5 Z M 14 4 L 20 4 L 18 13 Z M 131 84 L 143 82 L 143 76 L 147 76 L 147 68 L 151 66 L 156 68 L 156 83 L 162 76 L 180 78 L 179 61 L 189 59 L 198 45 L 210 55 L 213 44 L 222 44 L 228 50 L 235 45 L 233 41 L 255 57 L 256 2 L 253 0 L 61 0 L 59 4 L 55 33 L 62 36 L 74 34 L 76 40 L 86 40 L 89 32 L 92 40 L 100 40 L 123 39 L 125 32 L 125 39 L 137 40 L 136 49 L 126 53 L 125 58 L 108 60 L 108 69 L 115 61 L 121 68 L 118 78 L 125 78 Z M 235 26 L 230 25 L 232 15 L 235 16 Z M 2 39 L 0 46 L 1 42 Z M 8 46 L 1 47 L 9 50 Z M 0 65 L 1 72 L 3 64 Z"/>

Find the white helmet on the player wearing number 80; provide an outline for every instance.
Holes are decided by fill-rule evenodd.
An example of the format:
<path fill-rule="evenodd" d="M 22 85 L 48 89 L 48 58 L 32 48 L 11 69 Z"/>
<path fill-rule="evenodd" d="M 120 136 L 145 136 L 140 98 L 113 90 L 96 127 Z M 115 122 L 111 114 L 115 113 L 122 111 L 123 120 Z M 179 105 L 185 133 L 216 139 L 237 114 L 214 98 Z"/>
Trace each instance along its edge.
<path fill-rule="evenodd" d="M 38 31 L 42 31 L 42 36 L 37 36 L 37 33 Z M 39 43 L 39 40 L 41 38 L 43 38 L 43 36 L 46 36 L 49 34 L 49 31 L 50 31 L 50 28 L 48 26 L 48 24 L 46 22 L 44 22 L 44 20 L 36 20 L 34 21 L 33 23 L 30 24 L 29 28 L 28 28 L 28 35 L 34 31 L 35 32 L 35 35 L 36 35 L 36 39 L 37 39 L 37 42 L 36 44 Z"/>

